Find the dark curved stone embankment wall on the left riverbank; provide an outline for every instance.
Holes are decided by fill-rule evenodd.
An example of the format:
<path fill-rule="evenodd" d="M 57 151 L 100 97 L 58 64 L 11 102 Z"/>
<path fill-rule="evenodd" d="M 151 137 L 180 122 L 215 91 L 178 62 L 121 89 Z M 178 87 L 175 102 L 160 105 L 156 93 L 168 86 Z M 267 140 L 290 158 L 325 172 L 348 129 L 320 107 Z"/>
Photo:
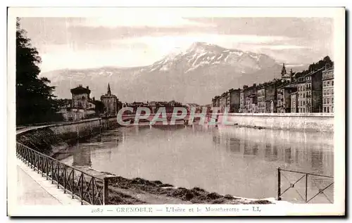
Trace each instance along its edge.
<path fill-rule="evenodd" d="M 47 155 L 55 155 L 68 149 L 79 139 L 100 134 L 106 129 L 118 127 L 116 117 L 101 117 L 79 122 L 68 122 L 19 129 L 16 141 Z"/>

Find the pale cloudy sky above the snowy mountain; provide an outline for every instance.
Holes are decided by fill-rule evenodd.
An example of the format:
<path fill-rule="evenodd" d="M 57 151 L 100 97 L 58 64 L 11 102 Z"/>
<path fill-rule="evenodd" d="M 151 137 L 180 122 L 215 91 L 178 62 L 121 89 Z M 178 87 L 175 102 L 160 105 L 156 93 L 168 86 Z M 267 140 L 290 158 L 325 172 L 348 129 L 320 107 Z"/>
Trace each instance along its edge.
<path fill-rule="evenodd" d="M 168 53 L 208 42 L 272 56 L 278 63 L 333 58 L 331 18 L 187 17 L 158 11 L 136 16 L 21 18 L 42 57 L 42 72 L 151 65 Z"/>

